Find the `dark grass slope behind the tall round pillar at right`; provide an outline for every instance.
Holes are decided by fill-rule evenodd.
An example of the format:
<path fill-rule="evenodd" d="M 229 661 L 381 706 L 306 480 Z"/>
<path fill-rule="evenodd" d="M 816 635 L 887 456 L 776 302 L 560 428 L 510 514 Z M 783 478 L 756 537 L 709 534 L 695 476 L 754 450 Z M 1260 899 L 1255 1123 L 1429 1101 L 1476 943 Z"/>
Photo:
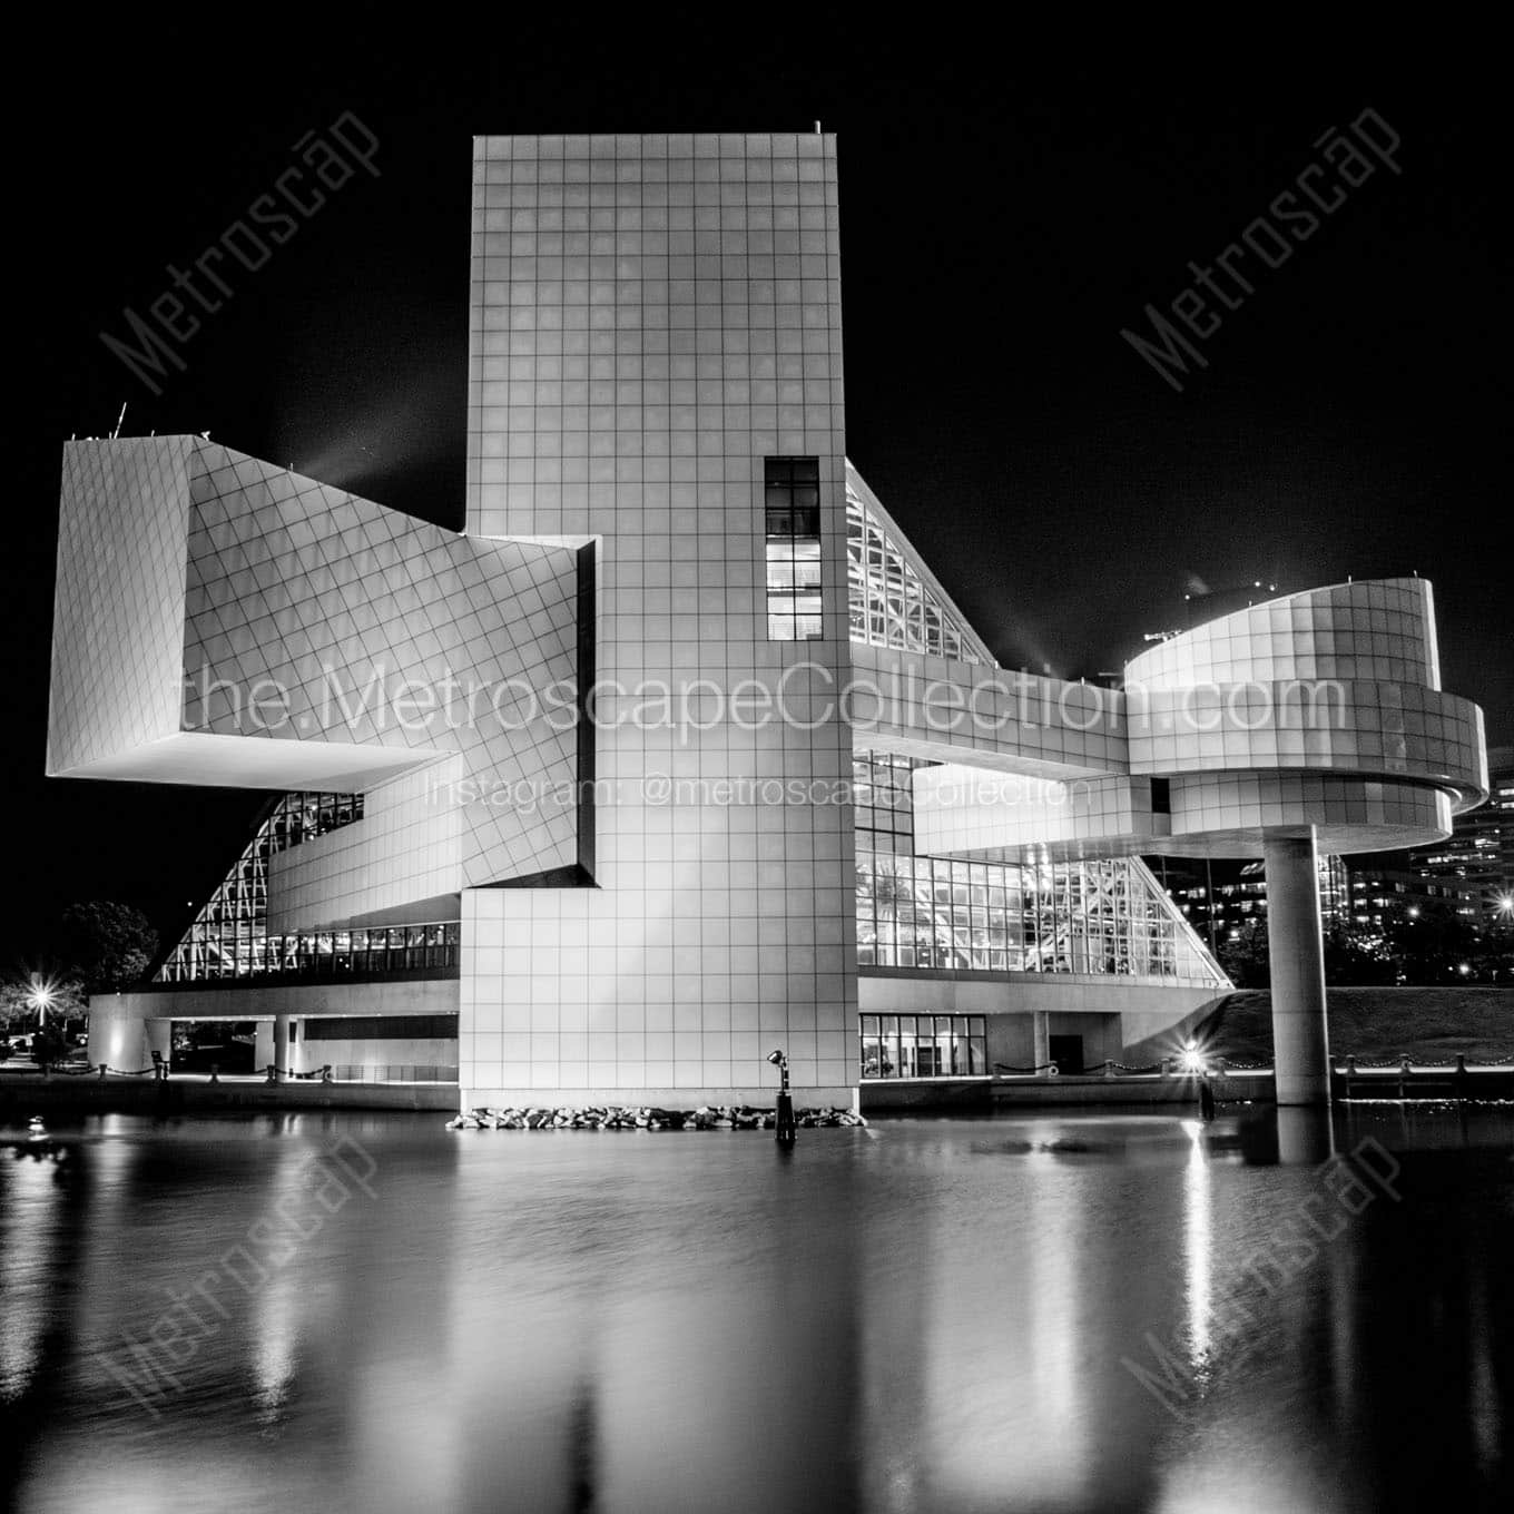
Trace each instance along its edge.
<path fill-rule="evenodd" d="M 1329 989 L 1329 1049 L 1335 1057 L 1514 1055 L 1514 989 Z M 1199 1031 L 1214 1052 L 1272 1060 L 1272 996 L 1229 995 Z"/>

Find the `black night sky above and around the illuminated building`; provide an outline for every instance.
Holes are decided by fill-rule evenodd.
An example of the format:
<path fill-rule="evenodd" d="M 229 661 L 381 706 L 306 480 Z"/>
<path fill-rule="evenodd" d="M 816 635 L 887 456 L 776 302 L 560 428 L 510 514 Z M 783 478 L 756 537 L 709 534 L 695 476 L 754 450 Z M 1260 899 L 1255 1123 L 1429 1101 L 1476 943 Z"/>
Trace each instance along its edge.
<path fill-rule="evenodd" d="M 852 460 L 1010 666 L 1117 668 L 1182 619 L 1190 575 L 1279 590 L 1417 571 L 1446 686 L 1514 739 L 1505 442 L 1502 64 L 1354 47 L 1073 65 L 910 35 L 716 38 L 666 12 L 654 50 L 587 18 L 531 32 L 38 42 L 6 103 L 12 392 L 5 674 L 12 831 L 3 961 L 70 899 L 165 931 L 224 872 L 259 798 L 45 781 L 59 447 L 201 431 L 383 504 L 462 521 L 469 138 L 839 133 Z M 254 26 L 254 23 L 245 23 Z M 363 23 L 369 26 L 369 23 Z M 702 39 L 704 51 L 689 51 Z M 981 61 L 980 61 L 981 59 Z M 24 74 L 32 64 L 14 58 Z M 45 101 L 45 104 L 44 104 Z M 1204 344 L 1175 394 L 1119 338 L 1190 283 L 1373 107 L 1379 170 Z M 183 348 L 153 398 L 101 330 L 167 286 L 344 111 L 377 180 L 333 195 Z M 1502 226 L 1502 217 L 1499 224 Z M 176 914 L 179 911 L 179 914 Z"/>

